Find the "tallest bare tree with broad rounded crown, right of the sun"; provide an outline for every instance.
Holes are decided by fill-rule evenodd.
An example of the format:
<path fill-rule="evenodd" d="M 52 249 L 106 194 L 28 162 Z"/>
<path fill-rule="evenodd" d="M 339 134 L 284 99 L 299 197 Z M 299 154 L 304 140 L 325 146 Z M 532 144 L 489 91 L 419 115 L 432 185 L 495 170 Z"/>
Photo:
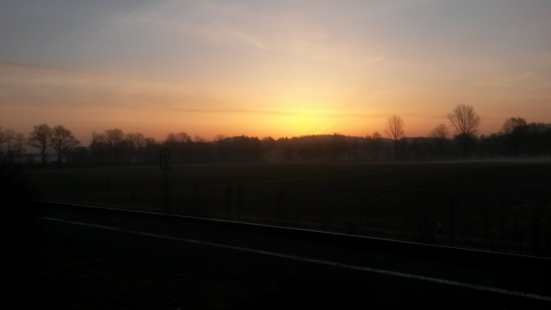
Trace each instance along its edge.
<path fill-rule="evenodd" d="M 480 116 L 474 112 L 470 105 L 458 104 L 453 112 L 447 115 L 451 124 L 457 130 L 463 147 L 463 158 L 467 158 L 469 139 L 473 138 L 480 125 Z"/>

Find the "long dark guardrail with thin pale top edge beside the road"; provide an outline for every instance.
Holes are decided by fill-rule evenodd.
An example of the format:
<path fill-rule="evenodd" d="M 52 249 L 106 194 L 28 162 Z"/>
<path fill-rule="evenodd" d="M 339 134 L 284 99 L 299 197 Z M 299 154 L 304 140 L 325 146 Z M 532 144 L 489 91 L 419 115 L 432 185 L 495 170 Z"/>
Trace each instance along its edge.
<path fill-rule="evenodd" d="M 247 231 L 262 233 L 268 236 L 305 239 L 316 243 L 326 243 L 339 247 L 382 250 L 387 253 L 408 255 L 434 261 L 445 261 L 458 265 L 482 269 L 514 269 L 517 272 L 537 272 L 545 279 L 551 275 L 551 259 L 509 253 L 489 252 L 483 250 L 445 247 L 442 245 L 413 243 L 399 240 L 355 236 L 350 234 L 314 231 L 309 229 L 262 225 L 255 223 L 217 220 L 213 218 L 172 215 L 165 213 L 115 209 L 64 202 L 35 200 L 36 206 L 67 207 L 96 212 L 116 213 L 126 216 L 155 217 L 168 221 L 202 223 L 217 227 L 246 229 Z"/>

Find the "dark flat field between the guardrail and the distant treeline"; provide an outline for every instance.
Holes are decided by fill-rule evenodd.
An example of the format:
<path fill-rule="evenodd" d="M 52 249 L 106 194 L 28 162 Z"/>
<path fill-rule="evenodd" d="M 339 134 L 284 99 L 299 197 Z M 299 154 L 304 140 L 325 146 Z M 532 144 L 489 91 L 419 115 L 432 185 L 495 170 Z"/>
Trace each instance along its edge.
<path fill-rule="evenodd" d="M 550 256 L 551 163 L 262 162 L 25 168 L 40 198 Z M 437 229 L 441 223 L 441 233 Z"/>

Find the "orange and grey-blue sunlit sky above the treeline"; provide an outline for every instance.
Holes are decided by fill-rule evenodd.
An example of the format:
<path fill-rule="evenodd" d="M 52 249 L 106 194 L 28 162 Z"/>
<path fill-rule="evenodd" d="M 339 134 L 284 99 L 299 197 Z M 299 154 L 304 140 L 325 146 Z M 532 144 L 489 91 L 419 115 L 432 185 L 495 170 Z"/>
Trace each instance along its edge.
<path fill-rule="evenodd" d="M 2 1 L 0 126 L 162 140 L 551 122 L 550 1 Z"/>

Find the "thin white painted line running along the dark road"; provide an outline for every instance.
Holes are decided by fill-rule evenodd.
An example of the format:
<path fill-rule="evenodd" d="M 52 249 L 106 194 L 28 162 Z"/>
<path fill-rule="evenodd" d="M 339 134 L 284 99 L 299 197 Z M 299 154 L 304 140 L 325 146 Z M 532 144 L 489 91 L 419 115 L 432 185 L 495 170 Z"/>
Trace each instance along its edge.
<path fill-rule="evenodd" d="M 537 299 L 537 300 L 551 301 L 551 297 L 547 297 L 547 296 L 540 296 L 540 295 L 534 295 L 534 294 L 528 294 L 528 293 L 522 293 L 522 292 L 516 292 L 516 291 L 509 291 L 509 290 L 503 290 L 501 288 L 475 285 L 475 284 L 468 284 L 468 283 L 457 282 L 457 281 L 436 279 L 434 277 L 425 277 L 425 276 L 404 274 L 403 272 L 396 272 L 396 271 L 375 269 L 375 268 L 369 268 L 369 267 L 361 267 L 361 266 L 347 265 L 347 264 L 341 264 L 341 263 L 334 263 L 333 261 L 327 261 L 327 260 L 311 259 L 311 258 L 305 258 L 305 257 L 300 257 L 300 256 L 295 256 L 295 255 L 287 255 L 287 254 L 267 252 L 267 251 L 262 251 L 262 250 L 249 249 L 249 248 L 234 247 L 233 245 L 225 245 L 225 244 L 219 244 L 219 243 L 204 242 L 204 241 L 199 241 L 199 240 L 191 240 L 191 239 L 163 236 L 163 235 L 154 234 L 154 233 L 131 231 L 129 229 L 123 229 L 123 228 L 116 228 L 116 227 L 102 226 L 102 225 L 89 224 L 89 223 L 66 221 L 66 220 L 60 220 L 58 218 L 52 218 L 52 217 L 42 217 L 42 218 L 44 218 L 45 220 L 52 220 L 52 221 L 71 223 L 71 224 L 76 224 L 76 225 L 84 225 L 84 226 L 110 229 L 112 231 L 135 233 L 135 234 L 141 234 L 143 236 L 150 236 L 150 237 L 156 237 L 156 238 L 176 240 L 176 241 L 181 241 L 181 242 L 212 245 L 213 247 L 219 247 L 219 248 L 241 250 L 241 251 L 252 252 L 252 253 L 266 254 L 266 255 L 296 259 L 296 260 L 301 260 L 301 261 L 308 261 L 310 263 L 318 263 L 318 264 L 324 264 L 324 265 L 330 265 L 330 266 L 336 266 L 336 267 L 342 267 L 342 268 L 348 268 L 348 269 L 355 269 L 355 270 L 371 271 L 371 272 L 377 272 L 379 274 L 409 277 L 409 278 L 417 279 L 417 280 L 425 280 L 425 281 L 437 282 L 437 283 L 442 283 L 442 284 L 449 284 L 449 285 L 460 286 L 460 287 L 474 288 L 476 290 L 490 291 L 490 292 L 503 293 L 503 294 L 508 294 L 508 295 L 528 297 L 528 298 L 533 298 L 533 299 Z"/>

